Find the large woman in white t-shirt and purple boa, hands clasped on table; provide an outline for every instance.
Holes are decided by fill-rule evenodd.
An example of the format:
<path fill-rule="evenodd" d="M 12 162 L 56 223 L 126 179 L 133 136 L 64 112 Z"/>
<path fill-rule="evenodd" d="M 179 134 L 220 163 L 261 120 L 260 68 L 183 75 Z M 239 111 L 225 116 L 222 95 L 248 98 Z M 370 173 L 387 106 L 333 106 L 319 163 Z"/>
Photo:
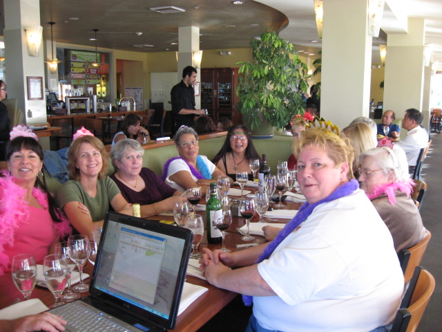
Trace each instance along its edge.
<path fill-rule="evenodd" d="M 253 303 L 247 332 L 386 331 L 403 274 L 390 232 L 352 179 L 352 147 L 314 128 L 294 155 L 307 203 L 271 242 L 232 253 L 204 248 L 207 280 Z"/>

